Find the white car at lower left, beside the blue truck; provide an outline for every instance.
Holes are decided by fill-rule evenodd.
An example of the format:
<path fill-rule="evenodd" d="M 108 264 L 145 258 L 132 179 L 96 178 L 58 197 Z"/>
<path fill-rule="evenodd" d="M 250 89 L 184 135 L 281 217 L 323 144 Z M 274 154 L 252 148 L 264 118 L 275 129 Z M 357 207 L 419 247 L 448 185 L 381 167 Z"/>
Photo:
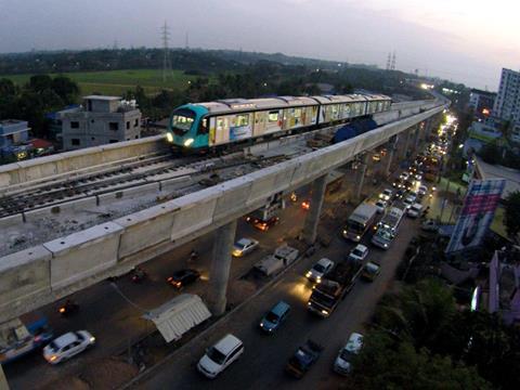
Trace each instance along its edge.
<path fill-rule="evenodd" d="M 87 330 L 69 332 L 43 348 L 43 358 L 51 364 L 57 364 L 83 352 L 94 343 L 95 337 Z"/>

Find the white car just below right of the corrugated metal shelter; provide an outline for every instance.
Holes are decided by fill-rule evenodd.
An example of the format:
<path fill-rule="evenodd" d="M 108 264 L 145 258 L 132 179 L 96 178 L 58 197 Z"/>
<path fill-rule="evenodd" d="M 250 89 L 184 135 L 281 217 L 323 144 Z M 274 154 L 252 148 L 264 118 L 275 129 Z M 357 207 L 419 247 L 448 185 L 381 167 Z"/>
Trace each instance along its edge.
<path fill-rule="evenodd" d="M 238 360 L 244 353 L 244 343 L 232 334 L 225 335 L 214 346 L 208 348 L 197 363 L 197 369 L 207 378 L 213 379 Z"/>

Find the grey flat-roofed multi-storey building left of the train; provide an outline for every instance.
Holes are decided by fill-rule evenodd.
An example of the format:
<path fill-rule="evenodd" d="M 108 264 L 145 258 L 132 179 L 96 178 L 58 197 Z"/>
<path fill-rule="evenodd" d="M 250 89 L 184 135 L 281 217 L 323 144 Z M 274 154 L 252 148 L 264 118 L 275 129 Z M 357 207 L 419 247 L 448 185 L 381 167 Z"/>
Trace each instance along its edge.
<path fill-rule="evenodd" d="M 135 101 L 91 95 L 83 105 L 63 113 L 64 150 L 77 150 L 141 138 L 141 110 Z"/>

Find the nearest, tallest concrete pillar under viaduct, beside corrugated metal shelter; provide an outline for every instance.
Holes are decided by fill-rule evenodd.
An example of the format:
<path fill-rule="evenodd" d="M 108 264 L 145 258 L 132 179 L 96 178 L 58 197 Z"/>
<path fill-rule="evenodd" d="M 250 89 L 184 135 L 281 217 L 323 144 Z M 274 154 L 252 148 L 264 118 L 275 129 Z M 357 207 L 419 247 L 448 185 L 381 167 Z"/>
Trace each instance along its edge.
<path fill-rule="evenodd" d="M 231 251 L 236 233 L 236 220 L 214 231 L 213 259 L 209 274 L 209 310 L 213 315 L 225 312 L 225 294 L 230 278 Z"/>

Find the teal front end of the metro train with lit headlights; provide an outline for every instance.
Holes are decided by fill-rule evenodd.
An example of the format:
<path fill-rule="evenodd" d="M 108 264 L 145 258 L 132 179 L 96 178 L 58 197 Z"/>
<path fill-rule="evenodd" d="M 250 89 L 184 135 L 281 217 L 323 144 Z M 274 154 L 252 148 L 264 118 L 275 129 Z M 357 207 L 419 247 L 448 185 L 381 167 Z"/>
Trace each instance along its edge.
<path fill-rule="evenodd" d="M 208 147 L 208 109 L 198 104 L 185 104 L 171 113 L 166 134 L 170 144 L 183 150 Z"/>

